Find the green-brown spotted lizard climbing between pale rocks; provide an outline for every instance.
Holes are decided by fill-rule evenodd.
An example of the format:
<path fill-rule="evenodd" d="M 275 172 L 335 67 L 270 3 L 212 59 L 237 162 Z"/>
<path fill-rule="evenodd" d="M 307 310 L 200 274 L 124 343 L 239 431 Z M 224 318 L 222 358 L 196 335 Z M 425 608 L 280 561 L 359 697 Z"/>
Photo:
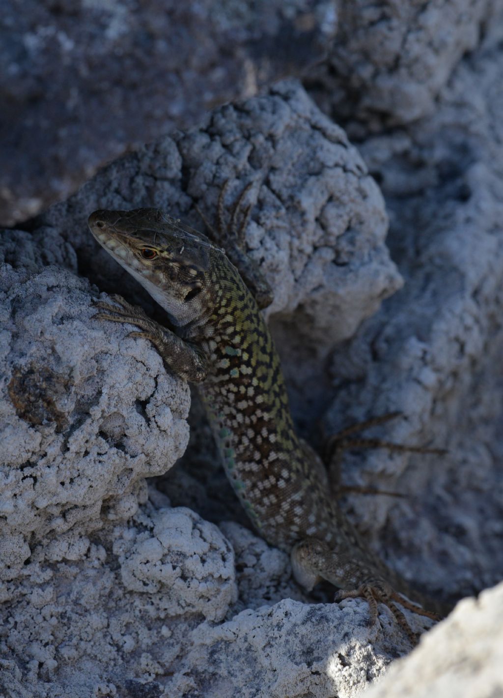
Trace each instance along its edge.
<path fill-rule="evenodd" d="M 243 255 L 232 235 L 242 237 L 248 221 L 249 207 L 238 231 L 237 210 L 248 187 L 227 230 L 226 188 L 218 200 L 218 230 L 239 262 Z M 94 317 L 137 327 L 128 336 L 151 341 L 168 369 L 197 384 L 227 477 L 257 533 L 290 554 L 294 578 L 306 591 L 325 580 L 338 589 L 335 601 L 363 597 L 370 625 L 377 623 L 377 604 L 386 604 L 416 644 L 397 604 L 434 620 L 439 606 L 412 592 L 370 550 L 334 500 L 320 456 L 296 436 L 280 359 L 260 311 L 271 300 L 270 287 L 253 263 L 246 261 L 246 276 L 258 304 L 223 248 L 160 209 L 98 210 L 88 224 L 163 307 L 172 328 L 120 295 L 111 296 L 114 304 L 95 302 Z"/>

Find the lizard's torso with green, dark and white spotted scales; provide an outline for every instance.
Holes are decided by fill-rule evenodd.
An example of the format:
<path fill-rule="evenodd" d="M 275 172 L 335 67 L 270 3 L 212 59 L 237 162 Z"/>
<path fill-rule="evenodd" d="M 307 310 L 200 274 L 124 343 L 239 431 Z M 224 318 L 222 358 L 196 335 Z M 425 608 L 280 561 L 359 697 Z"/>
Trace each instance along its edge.
<path fill-rule="evenodd" d="M 286 549 L 306 535 L 328 541 L 332 517 L 315 515 L 320 503 L 331 510 L 326 480 L 306 467 L 271 334 L 237 270 L 229 262 L 220 267 L 213 272 L 218 303 L 193 339 L 211 366 L 200 392 L 225 470 L 266 540 Z"/>

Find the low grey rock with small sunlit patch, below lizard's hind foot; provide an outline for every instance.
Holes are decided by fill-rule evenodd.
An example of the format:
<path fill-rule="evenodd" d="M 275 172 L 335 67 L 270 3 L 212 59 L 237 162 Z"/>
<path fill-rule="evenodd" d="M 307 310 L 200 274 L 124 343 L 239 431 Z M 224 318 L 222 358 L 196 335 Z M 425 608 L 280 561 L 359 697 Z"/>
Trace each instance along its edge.
<path fill-rule="evenodd" d="M 165 695 L 351 698 L 390 660 L 360 604 L 343 610 L 285 599 L 216 628 L 200 625 L 191 639 L 194 648 Z"/>

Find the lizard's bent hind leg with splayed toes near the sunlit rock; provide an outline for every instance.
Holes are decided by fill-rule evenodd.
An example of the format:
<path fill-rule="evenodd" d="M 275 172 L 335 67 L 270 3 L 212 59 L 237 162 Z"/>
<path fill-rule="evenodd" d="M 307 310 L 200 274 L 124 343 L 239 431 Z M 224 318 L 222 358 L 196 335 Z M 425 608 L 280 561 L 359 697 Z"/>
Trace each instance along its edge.
<path fill-rule="evenodd" d="M 377 623 L 377 604 L 385 604 L 413 646 L 417 644 L 417 636 L 394 602 L 419 616 L 426 616 L 434 621 L 440 620 L 437 614 L 426 611 L 396 592 L 380 574 L 361 562 L 357 554 L 337 551 L 320 540 L 306 538 L 294 546 L 291 560 L 296 581 L 307 591 L 311 591 L 317 582 L 326 579 L 340 588 L 334 601 L 356 597 L 365 599 L 370 610 L 370 625 Z"/>

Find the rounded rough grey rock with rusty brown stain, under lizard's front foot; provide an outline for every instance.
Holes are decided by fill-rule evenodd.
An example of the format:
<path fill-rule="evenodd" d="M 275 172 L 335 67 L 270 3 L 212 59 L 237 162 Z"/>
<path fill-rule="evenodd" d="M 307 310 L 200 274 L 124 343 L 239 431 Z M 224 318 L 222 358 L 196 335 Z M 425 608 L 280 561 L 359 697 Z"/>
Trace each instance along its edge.
<path fill-rule="evenodd" d="M 0 579 L 8 581 L 32 544 L 135 512 L 144 478 L 185 450 L 189 394 L 146 342 L 90 319 L 88 281 L 6 265 L 0 292 Z"/>

